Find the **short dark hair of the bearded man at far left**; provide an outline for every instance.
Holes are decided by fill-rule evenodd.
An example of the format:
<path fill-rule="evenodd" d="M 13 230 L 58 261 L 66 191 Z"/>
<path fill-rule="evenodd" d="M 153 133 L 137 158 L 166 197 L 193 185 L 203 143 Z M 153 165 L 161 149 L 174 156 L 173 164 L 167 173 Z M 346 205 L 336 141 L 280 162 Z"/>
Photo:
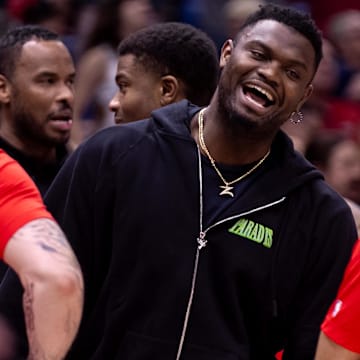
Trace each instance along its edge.
<path fill-rule="evenodd" d="M 0 37 L 0 74 L 10 78 L 20 57 L 22 47 L 30 40 L 59 40 L 59 35 L 37 25 L 9 29 Z"/>

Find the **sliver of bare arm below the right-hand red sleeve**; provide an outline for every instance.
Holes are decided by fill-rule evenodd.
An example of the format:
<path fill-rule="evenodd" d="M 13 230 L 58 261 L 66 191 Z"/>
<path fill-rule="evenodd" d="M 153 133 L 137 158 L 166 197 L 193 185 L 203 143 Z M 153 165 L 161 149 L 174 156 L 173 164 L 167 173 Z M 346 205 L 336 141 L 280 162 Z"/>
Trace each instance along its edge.
<path fill-rule="evenodd" d="M 321 332 L 315 360 L 360 360 L 360 354 L 336 344 Z"/>

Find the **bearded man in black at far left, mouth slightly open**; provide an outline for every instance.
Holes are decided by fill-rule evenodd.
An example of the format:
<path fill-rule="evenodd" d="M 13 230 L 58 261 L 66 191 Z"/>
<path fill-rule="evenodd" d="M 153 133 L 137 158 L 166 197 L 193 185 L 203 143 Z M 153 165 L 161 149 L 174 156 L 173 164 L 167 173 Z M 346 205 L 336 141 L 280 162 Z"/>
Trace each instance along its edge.
<path fill-rule="evenodd" d="M 73 60 L 57 34 L 20 26 L 0 38 L 0 148 L 42 195 L 68 154 L 74 77 Z"/>

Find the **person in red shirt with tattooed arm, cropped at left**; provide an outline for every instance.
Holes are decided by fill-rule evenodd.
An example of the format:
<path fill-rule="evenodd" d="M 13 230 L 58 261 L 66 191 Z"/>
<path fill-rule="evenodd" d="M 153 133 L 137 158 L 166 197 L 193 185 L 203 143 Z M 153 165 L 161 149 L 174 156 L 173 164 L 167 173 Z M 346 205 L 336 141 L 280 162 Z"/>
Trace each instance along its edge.
<path fill-rule="evenodd" d="M 82 314 L 80 267 L 34 183 L 1 149 L 0 229 L 0 259 L 14 269 L 24 288 L 28 359 L 63 359 Z M 0 333 L 1 359 L 19 359 L 2 317 Z"/>

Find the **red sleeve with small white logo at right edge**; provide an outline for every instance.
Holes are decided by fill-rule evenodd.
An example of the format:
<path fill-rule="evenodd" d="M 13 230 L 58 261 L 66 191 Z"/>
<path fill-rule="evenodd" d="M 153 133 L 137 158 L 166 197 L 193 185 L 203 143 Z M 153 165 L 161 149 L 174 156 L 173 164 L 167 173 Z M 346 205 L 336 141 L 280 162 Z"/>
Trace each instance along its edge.
<path fill-rule="evenodd" d="M 354 247 L 337 297 L 321 329 L 338 345 L 360 353 L 360 241 Z"/>

